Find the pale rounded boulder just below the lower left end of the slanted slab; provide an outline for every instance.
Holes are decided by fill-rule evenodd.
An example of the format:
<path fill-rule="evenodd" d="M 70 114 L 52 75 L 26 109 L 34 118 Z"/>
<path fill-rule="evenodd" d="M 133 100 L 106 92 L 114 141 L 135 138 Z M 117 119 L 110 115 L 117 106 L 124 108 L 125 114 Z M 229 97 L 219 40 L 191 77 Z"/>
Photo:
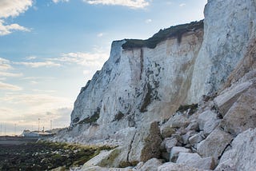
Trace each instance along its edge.
<path fill-rule="evenodd" d="M 198 116 L 199 129 L 203 130 L 206 136 L 216 128 L 219 121 L 217 113 L 214 113 L 212 110 L 206 110 Z"/>

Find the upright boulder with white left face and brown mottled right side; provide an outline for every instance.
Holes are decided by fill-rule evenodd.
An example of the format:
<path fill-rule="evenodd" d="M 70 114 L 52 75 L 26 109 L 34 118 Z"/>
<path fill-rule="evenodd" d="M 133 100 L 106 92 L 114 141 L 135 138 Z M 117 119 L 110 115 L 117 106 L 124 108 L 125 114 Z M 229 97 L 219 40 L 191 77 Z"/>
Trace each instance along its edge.
<path fill-rule="evenodd" d="M 132 141 L 128 161 L 136 165 L 139 161 L 148 161 L 150 158 L 160 156 L 162 138 L 158 122 L 142 125 Z"/>

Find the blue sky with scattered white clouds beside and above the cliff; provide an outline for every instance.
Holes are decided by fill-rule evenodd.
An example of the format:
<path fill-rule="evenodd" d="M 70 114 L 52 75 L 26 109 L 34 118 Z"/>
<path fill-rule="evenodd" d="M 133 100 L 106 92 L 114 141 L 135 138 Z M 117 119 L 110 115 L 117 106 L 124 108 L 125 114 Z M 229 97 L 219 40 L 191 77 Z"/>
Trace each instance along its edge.
<path fill-rule="evenodd" d="M 206 0 L 0 0 L 0 135 L 70 125 L 111 42 L 201 20 Z"/>

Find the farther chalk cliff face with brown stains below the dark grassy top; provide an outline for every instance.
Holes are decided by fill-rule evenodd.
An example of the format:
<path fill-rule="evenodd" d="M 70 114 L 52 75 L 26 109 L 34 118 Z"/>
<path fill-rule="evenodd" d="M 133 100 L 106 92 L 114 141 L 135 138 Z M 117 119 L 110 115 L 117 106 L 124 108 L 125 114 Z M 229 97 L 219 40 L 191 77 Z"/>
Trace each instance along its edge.
<path fill-rule="evenodd" d="M 78 95 L 71 125 L 97 129 L 86 135 L 91 140 L 169 118 L 186 103 L 202 35 L 202 28 L 188 31 L 181 42 L 168 38 L 154 49 L 123 50 L 126 41 L 113 42 L 110 59 Z"/>

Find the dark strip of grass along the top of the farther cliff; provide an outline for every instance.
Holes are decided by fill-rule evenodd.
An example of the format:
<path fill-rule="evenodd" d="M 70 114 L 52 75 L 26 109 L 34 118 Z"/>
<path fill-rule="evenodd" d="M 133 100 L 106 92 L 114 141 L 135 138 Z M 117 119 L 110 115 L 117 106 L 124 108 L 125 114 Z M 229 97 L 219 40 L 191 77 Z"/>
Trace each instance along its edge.
<path fill-rule="evenodd" d="M 171 26 L 168 29 L 159 30 L 157 34 L 146 40 L 139 39 L 126 39 L 126 43 L 122 45 L 122 49 L 142 48 L 148 47 L 154 49 L 159 42 L 166 40 L 167 38 L 178 38 L 178 43 L 182 41 L 182 34 L 188 31 L 198 30 L 203 28 L 203 20 L 199 22 L 190 22 L 178 26 Z"/>

